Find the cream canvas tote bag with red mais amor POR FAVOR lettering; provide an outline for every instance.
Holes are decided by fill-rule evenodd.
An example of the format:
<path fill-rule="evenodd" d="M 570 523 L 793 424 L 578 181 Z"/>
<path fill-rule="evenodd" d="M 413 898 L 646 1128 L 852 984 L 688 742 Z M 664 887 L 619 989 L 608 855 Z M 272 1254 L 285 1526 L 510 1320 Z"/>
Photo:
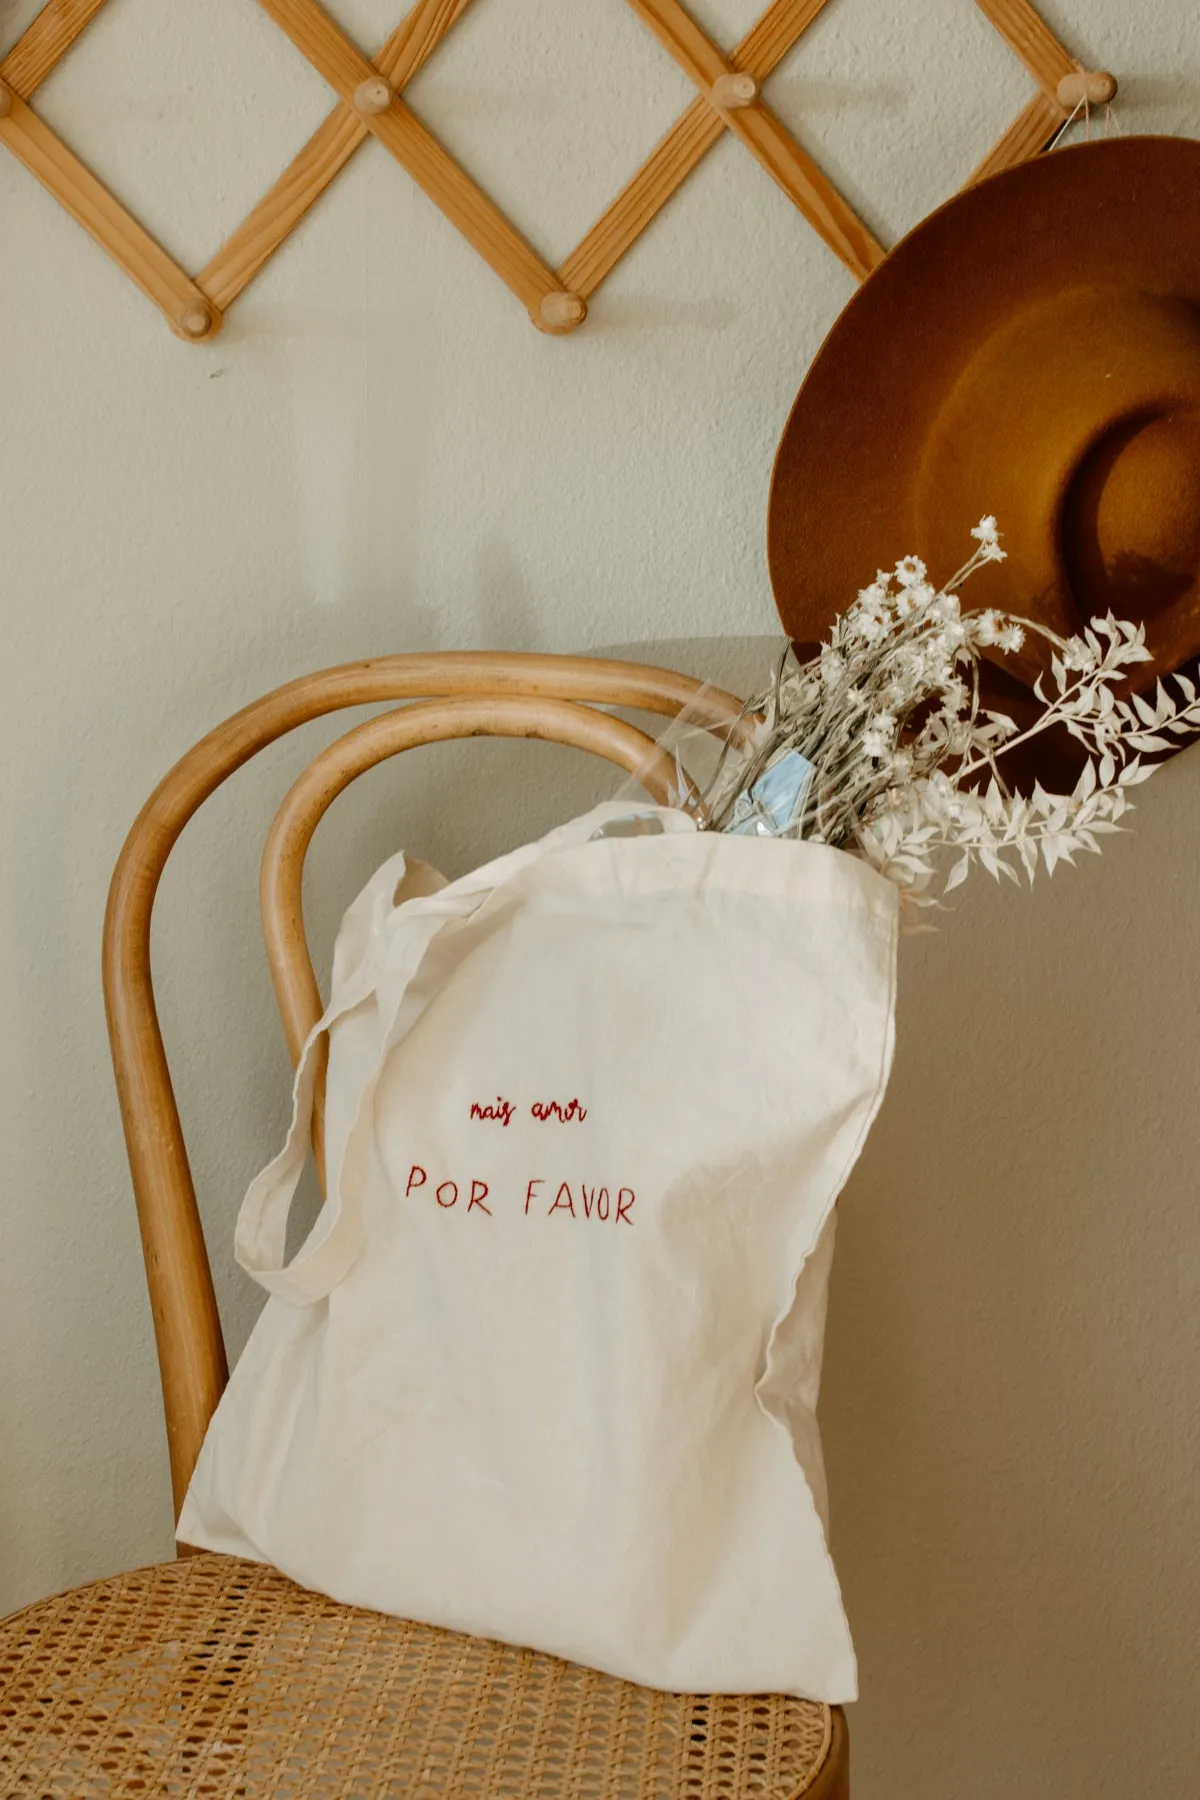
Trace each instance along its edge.
<path fill-rule="evenodd" d="M 815 1402 L 896 889 L 637 812 L 450 886 L 396 857 L 347 913 L 178 1537 L 648 1687 L 846 1701 Z M 284 1264 L 322 1030 L 329 1199 Z"/>

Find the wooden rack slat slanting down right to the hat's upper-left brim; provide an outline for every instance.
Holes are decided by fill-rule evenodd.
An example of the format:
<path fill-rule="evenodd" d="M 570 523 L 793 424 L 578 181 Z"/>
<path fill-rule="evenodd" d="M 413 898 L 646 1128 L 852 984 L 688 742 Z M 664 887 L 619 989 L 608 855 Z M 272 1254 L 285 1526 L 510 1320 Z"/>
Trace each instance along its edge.
<path fill-rule="evenodd" d="M 628 4 L 702 94 L 711 94 L 714 81 L 734 72 L 732 63 L 678 0 L 628 0 Z M 763 101 L 738 106 L 721 117 L 851 274 L 864 281 L 883 261 L 883 247 L 876 243 L 824 169 L 801 149 Z"/>

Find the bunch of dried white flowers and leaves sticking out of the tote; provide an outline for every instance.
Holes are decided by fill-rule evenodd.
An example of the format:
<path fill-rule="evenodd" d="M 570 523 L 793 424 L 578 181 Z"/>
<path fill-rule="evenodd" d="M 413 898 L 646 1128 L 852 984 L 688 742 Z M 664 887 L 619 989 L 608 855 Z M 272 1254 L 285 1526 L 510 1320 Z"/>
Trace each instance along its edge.
<path fill-rule="evenodd" d="M 1164 682 L 1153 700 L 1126 697 L 1128 670 L 1150 652 L 1144 628 L 1112 614 L 1060 637 L 993 608 L 964 612 L 963 583 L 1006 554 L 995 518 L 972 536 L 973 554 L 945 587 L 905 556 L 862 589 L 819 655 L 797 662 L 784 648 L 743 715 L 741 747 L 727 747 L 700 790 L 705 830 L 855 851 L 928 905 L 975 862 L 997 880 L 1020 869 L 1033 880 L 1123 828 L 1128 790 L 1153 772 L 1142 758 L 1200 731 L 1195 684 L 1173 675 L 1178 697 Z M 1022 731 L 981 702 L 979 664 L 984 650 L 1018 652 L 1025 634 L 1051 646 L 1051 679 L 1038 677 L 1042 711 Z M 1013 792 L 1004 758 L 1052 725 L 1087 751 L 1074 792 Z"/>

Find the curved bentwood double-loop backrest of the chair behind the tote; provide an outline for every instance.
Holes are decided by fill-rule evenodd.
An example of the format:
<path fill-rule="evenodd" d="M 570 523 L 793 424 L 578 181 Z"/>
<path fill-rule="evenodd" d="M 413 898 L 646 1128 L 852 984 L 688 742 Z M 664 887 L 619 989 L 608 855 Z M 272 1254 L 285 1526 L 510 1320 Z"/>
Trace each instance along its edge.
<path fill-rule="evenodd" d="M 175 1508 L 184 1501 L 209 1418 L 228 1379 L 175 1089 L 155 1008 L 149 923 L 167 857 L 203 801 L 257 751 L 326 713 L 412 700 L 360 725 L 317 758 L 275 821 L 264 857 L 264 920 L 272 976 L 293 1048 L 320 1015 L 300 918 L 304 851 L 331 801 L 362 769 L 457 736 L 538 736 L 574 743 L 624 769 L 646 765 L 666 794 L 653 742 L 590 711 L 631 707 L 736 729 L 741 702 L 689 675 L 639 662 L 453 652 L 398 655 L 306 675 L 234 713 L 158 783 L 124 842 L 104 914 L 104 1006 L 137 1197 L 171 1454 Z M 299 1033 L 299 1037 L 297 1037 Z"/>

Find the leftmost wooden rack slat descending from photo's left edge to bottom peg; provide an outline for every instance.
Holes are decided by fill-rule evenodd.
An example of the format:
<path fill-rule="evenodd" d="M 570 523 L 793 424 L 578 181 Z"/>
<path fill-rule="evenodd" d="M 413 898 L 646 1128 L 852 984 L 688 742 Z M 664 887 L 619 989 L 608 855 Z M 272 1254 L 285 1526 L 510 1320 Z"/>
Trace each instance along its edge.
<path fill-rule="evenodd" d="M 187 337 L 180 329 L 180 319 L 193 310 L 205 310 L 207 297 L 18 95 L 13 95 L 11 112 L 0 119 L 0 144 L 9 146 L 29 173 L 137 281 L 142 293 L 162 308 L 176 337 Z M 219 324 L 218 311 L 207 335 L 212 337 Z"/>

